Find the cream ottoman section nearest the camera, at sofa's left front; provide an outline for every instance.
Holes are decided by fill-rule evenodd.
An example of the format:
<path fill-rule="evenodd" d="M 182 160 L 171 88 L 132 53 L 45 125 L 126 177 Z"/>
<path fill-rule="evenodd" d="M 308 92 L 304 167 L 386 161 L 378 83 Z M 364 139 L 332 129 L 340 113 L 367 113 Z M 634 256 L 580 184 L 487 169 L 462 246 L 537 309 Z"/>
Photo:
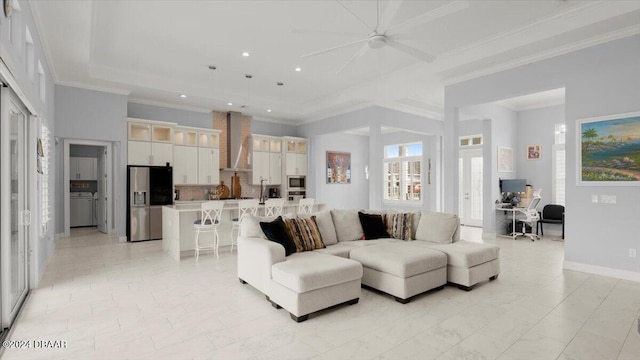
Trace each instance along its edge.
<path fill-rule="evenodd" d="M 271 267 L 272 305 L 285 308 L 297 322 L 309 314 L 360 299 L 362 265 L 339 256 L 302 252 Z"/>

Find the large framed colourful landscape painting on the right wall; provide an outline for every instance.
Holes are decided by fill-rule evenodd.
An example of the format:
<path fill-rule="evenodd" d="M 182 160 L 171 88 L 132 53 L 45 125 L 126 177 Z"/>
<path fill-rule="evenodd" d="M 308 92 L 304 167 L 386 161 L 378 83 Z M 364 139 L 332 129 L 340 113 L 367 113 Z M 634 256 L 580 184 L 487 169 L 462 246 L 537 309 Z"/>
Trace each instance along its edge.
<path fill-rule="evenodd" d="M 640 185 L 640 112 L 578 120 L 577 185 Z"/>

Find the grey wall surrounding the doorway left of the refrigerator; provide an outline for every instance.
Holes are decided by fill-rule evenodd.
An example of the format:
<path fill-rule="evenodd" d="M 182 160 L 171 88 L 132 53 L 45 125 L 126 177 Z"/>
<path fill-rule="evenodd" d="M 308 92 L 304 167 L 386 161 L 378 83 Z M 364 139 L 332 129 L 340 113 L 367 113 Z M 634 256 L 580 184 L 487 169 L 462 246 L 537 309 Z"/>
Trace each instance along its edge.
<path fill-rule="evenodd" d="M 62 139 L 106 141 L 115 144 L 113 161 L 117 174 L 113 177 L 118 185 L 114 209 L 116 231 L 126 234 L 126 189 L 127 189 L 127 97 L 100 91 L 68 86 L 56 86 L 56 130 L 55 136 Z M 56 147 L 58 158 L 63 158 L 63 142 Z M 64 194 L 64 166 L 61 160 L 56 166 L 57 190 Z M 56 199 L 56 229 L 64 232 L 64 199 Z"/>

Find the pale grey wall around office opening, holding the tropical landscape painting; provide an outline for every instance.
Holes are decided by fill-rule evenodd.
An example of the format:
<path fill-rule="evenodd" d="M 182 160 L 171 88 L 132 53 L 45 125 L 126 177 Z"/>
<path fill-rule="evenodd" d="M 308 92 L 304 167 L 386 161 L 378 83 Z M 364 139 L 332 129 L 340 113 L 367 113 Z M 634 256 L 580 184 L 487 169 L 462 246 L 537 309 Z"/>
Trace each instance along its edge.
<path fill-rule="evenodd" d="M 445 88 L 445 133 L 457 133 L 459 108 L 500 99 L 566 88 L 567 212 L 565 265 L 640 279 L 640 259 L 627 256 L 640 248 L 638 187 L 576 184 L 576 121 L 640 110 L 640 36 L 538 61 Z M 445 144 L 445 166 L 457 158 L 454 138 Z M 457 203 L 455 167 L 445 171 L 445 205 Z M 592 195 L 615 195 L 617 204 L 592 203 Z M 604 269 L 604 270 L 603 270 Z"/>

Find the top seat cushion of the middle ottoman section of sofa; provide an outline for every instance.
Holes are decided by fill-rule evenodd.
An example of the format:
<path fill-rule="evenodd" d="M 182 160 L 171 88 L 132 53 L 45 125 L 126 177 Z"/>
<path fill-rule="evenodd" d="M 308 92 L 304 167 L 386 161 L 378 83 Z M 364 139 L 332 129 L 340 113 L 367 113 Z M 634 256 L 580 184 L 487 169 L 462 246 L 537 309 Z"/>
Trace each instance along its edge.
<path fill-rule="evenodd" d="M 400 278 L 447 266 L 447 256 L 442 252 L 404 244 L 365 246 L 351 250 L 349 257 L 364 267 Z"/>

